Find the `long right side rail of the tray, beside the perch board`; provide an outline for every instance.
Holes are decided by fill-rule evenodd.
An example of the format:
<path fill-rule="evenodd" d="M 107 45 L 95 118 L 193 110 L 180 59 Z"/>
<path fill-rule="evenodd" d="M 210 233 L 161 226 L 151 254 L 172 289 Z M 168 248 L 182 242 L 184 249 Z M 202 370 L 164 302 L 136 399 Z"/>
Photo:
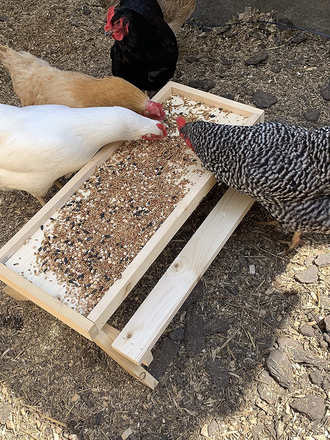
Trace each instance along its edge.
<path fill-rule="evenodd" d="M 121 274 L 121 278 L 114 282 L 101 298 L 101 301 L 89 313 L 88 319 L 93 321 L 99 330 L 103 328 L 106 321 L 117 310 L 128 293 L 215 183 L 216 179 L 211 172 L 203 173 L 186 196 L 178 202 L 176 208 L 167 217 L 166 221 L 158 228 L 146 245 L 143 246 L 143 249 L 129 264 L 128 268 Z"/>

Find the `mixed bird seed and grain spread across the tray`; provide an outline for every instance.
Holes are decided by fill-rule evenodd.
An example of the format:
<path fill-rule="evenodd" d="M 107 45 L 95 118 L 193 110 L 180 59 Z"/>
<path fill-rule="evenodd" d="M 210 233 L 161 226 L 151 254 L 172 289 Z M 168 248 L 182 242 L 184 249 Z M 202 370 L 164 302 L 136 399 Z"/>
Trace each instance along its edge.
<path fill-rule="evenodd" d="M 57 282 L 59 301 L 82 315 L 121 278 L 193 184 L 187 167 L 199 161 L 178 136 L 176 117 L 238 121 L 236 114 L 177 95 L 165 101 L 164 110 L 169 136 L 126 142 L 100 165 L 41 227 L 43 239 L 32 246 L 34 261 L 21 272 L 28 279 L 33 275 L 33 282 L 35 277 Z"/>

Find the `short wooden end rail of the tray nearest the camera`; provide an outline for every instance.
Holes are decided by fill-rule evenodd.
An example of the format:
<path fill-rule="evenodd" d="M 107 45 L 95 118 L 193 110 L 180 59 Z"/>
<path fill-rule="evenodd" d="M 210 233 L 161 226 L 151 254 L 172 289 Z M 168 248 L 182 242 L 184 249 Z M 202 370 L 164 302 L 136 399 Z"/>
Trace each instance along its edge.
<path fill-rule="evenodd" d="M 98 330 L 92 321 L 62 304 L 2 263 L 0 263 L 0 280 L 88 339 L 93 340 L 97 336 Z"/>

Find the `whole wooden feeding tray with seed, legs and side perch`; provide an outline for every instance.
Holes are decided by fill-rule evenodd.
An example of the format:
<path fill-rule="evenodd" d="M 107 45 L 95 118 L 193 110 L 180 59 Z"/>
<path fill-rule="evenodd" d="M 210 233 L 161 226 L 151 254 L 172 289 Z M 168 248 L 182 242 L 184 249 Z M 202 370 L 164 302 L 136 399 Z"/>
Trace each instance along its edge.
<path fill-rule="evenodd" d="M 106 145 L 0 250 L 0 279 L 16 300 L 95 341 L 152 389 L 141 363 L 253 204 L 229 189 L 124 329 L 106 324 L 216 183 L 185 150 L 176 116 L 264 121 L 262 110 L 173 82 L 154 100 L 165 106 L 165 140 Z"/>

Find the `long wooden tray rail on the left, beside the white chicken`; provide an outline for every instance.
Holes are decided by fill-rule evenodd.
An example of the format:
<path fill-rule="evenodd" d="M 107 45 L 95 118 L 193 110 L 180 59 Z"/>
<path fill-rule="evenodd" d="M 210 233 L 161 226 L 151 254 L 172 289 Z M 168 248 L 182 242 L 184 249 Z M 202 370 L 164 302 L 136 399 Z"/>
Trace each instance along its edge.
<path fill-rule="evenodd" d="M 14 235 L 1 249 L 0 262 L 6 261 L 21 247 L 25 240 L 36 232 L 45 220 L 48 220 L 71 197 L 74 191 L 101 165 L 111 154 L 120 147 L 122 142 L 108 143 L 95 156 L 75 174 L 64 187 L 46 203 L 32 219 L 30 219 L 17 234 Z"/>

